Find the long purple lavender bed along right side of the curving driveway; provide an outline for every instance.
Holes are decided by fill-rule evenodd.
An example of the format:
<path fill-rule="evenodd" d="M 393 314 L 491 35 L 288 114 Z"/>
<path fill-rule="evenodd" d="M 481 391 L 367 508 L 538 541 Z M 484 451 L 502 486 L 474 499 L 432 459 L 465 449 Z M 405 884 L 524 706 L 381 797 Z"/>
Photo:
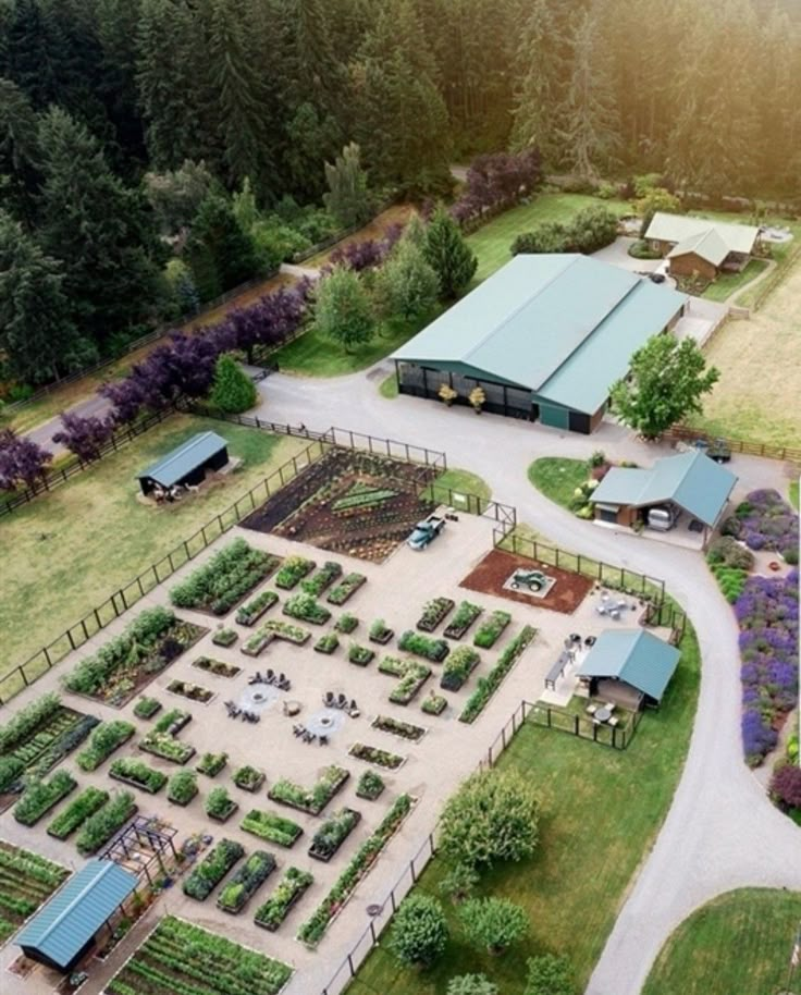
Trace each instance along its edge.
<path fill-rule="evenodd" d="M 757 492 L 760 493 L 760 492 Z M 742 748 L 759 766 L 798 700 L 798 570 L 752 577 L 735 603 L 742 666 Z"/>

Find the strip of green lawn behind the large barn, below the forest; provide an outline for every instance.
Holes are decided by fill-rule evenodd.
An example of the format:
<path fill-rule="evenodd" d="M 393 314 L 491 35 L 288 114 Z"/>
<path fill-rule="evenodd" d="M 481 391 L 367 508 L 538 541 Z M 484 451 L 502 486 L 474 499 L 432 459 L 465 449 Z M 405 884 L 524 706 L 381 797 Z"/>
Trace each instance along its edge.
<path fill-rule="evenodd" d="M 625 200 L 602 200 L 584 194 L 537 194 L 530 204 L 505 211 L 468 237 L 479 259 L 475 283 L 480 283 L 512 259 L 512 243 L 543 221 L 570 221 L 582 208 L 605 207 L 616 214 L 631 212 Z"/>

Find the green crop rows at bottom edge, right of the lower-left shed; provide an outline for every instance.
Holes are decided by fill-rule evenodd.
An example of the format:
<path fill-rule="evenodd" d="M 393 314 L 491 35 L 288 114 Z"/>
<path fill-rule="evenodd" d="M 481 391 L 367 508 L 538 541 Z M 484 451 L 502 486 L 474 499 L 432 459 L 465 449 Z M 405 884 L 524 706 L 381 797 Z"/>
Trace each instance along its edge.
<path fill-rule="evenodd" d="M 165 916 L 106 985 L 107 995 L 278 995 L 292 968 Z"/>

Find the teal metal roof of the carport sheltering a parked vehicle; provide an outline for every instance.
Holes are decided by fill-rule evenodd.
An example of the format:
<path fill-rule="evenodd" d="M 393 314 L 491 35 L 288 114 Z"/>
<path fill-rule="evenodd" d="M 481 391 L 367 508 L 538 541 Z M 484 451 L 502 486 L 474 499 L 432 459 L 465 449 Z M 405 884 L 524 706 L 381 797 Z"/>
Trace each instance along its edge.
<path fill-rule="evenodd" d="M 665 456 L 650 470 L 613 467 L 590 496 L 594 504 L 644 507 L 673 501 L 704 525 L 714 526 L 737 477 L 700 450 Z"/>

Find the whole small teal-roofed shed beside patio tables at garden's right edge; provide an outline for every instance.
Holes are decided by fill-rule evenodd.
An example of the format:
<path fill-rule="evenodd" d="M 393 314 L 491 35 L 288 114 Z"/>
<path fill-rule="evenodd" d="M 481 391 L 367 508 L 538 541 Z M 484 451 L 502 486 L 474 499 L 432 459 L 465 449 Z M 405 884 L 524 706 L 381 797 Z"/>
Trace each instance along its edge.
<path fill-rule="evenodd" d="M 626 708 L 658 705 L 681 653 L 645 629 L 601 632 L 577 676 L 592 697 Z"/>

